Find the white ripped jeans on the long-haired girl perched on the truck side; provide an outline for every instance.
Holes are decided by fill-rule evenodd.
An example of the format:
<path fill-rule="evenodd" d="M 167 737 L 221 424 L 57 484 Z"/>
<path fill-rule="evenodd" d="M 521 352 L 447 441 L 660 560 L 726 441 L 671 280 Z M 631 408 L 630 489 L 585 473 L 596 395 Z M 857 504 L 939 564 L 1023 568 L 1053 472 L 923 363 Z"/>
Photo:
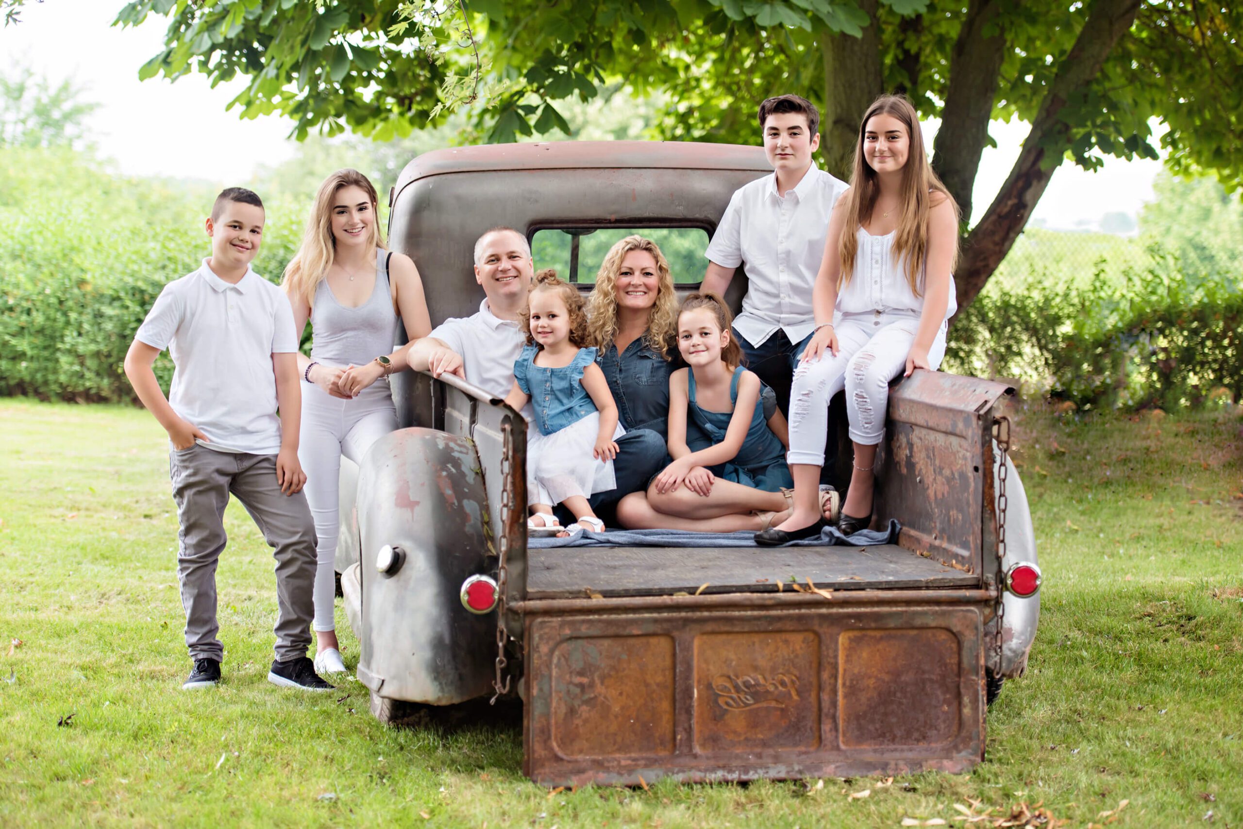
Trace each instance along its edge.
<path fill-rule="evenodd" d="M 865 311 L 843 314 L 834 325 L 838 354 L 798 364 L 789 392 L 789 453 L 787 463 L 824 465 L 829 401 L 845 388 L 850 439 L 864 446 L 880 443 L 885 436 L 889 381 L 906 369 L 920 318 L 909 311 Z M 929 349 L 929 366 L 935 371 L 945 357 L 945 331 Z"/>

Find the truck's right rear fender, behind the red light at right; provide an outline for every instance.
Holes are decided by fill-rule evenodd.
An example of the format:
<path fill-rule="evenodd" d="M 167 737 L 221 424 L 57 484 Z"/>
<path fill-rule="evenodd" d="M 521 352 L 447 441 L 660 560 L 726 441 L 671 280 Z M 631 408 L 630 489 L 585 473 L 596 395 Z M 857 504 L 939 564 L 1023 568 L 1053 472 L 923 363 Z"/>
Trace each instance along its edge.
<path fill-rule="evenodd" d="M 1035 529 L 1032 525 L 1032 510 L 1027 503 L 1023 480 L 1019 478 L 1014 462 L 1006 458 L 1006 567 L 1027 561 L 1038 565 L 1035 551 Z M 993 443 L 993 484 L 998 498 L 998 518 L 1001 500 L 1001 452 Z M 1019 598 L 1009 591 L 1002 594 L 1006 616 L 1002 625 L 1002 664 L 997 670 L 996 656 L 989 650 L 989 668 L 998 676 L 1022 676 L 1027 670 L 1027 656 L 1035 639 L 1035 627 L 1040 621 L 1040 592 L 1028 598 Z M 992 642 L 992 624 L 984 633 L 984 640 Z"/>

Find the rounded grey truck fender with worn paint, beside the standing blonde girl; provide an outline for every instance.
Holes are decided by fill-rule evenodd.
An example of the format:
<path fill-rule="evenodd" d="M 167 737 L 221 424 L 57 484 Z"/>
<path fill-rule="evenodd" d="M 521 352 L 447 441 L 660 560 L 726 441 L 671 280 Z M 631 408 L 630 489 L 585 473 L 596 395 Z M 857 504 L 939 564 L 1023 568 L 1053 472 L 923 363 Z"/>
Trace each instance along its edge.
<path fill-rule="evenodd" d="M 390 432 L 363 458 L 357 491 L 359 681 L 379 697 L 429 705 L 486 694 L 496 617 L 467 612 L 460 598 L 466 577 L 495 565 L 474 443 Z"/>

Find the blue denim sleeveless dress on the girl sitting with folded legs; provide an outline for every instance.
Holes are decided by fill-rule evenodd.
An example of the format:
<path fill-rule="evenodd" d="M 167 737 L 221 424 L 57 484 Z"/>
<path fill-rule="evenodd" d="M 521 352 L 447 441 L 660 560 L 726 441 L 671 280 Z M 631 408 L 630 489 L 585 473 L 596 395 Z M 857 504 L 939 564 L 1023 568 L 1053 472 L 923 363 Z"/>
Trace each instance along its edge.
<path fill-rule="evenodd" d="M 746 369 L 738 366 L 733 370 L 733 377 L 730 380 L 730 402 L 732 403 L 738 402 L 738 379 L 743 371 Z M 686 413 L 702 432 L 702 436 L 696 436 L 687 429 L 686 446 L 691 452 L 699 452 L 725 439 L 730 421 L 733 419 L 733 412 L 710 412 L 706 408 L 700 408 L 695 398 L 694 371 L 687 370 L 686 386 Z M 743 438 L 738 454 L 735 455 L 733 460 L 711 467 L 711 470 L 717 478 L 769 493 L 776 493 L 782 486 L 794 485 L 789 467 L 786 465 L 786 447 L 768 428 L 764 419 L 762 393 L 756 401 L 756 411 L 751 415 L 751 427 L 747 429 L 747 437 Z"/>

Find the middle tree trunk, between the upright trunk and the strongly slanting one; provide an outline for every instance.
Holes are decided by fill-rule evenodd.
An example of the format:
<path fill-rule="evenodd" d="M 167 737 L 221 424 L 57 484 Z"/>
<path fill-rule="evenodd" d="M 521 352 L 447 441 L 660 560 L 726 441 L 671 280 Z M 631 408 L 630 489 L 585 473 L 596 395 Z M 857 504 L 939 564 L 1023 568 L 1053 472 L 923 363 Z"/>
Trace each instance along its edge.
<path fill-rule="evenodd" d="M 950 88 L 941 110 L 941 128 L 932 143 L 932 169 L 958 202 L 962 221 L 971 221 L 971 194 L 979 156 L 988 143 L 988 120 L 997 99 L 1006 37 L 984 37 L 999 14 L 998 0 L 971 0 L 950 56 Z"/>

